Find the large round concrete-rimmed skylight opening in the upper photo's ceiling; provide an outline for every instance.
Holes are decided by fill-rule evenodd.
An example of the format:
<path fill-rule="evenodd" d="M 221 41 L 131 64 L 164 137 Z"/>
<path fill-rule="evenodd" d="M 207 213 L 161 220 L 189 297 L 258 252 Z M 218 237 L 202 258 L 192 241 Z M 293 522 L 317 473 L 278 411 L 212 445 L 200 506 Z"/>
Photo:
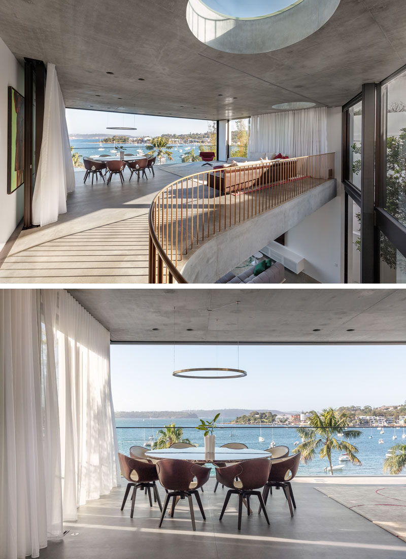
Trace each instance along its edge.
<path fill-rule="evenodd" d="M 340 0 L 188 0 L 197 39 L 234 54 L 269 53 L 306 39 L 333 16 Z"/>

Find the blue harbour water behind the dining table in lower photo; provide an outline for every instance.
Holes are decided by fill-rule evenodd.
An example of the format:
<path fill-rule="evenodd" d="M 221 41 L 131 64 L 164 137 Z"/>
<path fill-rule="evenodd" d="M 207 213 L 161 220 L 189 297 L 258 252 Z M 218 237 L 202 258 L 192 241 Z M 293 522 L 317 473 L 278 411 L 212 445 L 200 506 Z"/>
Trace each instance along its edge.
<path fill-rule="evenodd" d="M 207 419 L 207 418 L 202 418 Z M 209 418 L 211 419 L 211 418 Z M 299 434 L 295 428 L 286 427 L 262 427 L 262 437 L 265 439 L 259 442 L 259 425 L 254 427 L 247 425 L 226 425 L 228 421 L 235 418 L 223 418 L 224 424 L 218 424 L 219 429 L 215 430 L 216 446 L 221 446 L 229 442 L 240 442 L 246 444 L 249 448 L 258 448 L 265 450 L 271 446 L 272 440 L 276 446 L 284 444 L 290 448 L 292 452 L 295 448 L 295 442 L 301 442 Z M 158 438 L 158 429 L 164 425 L 175 422 L 176 427 L 184 427 L 183 437 L 190 439 L 191 443 L 204 446 L 204 436 L 201 431 L 194 427 L 199 424 L 198 419 L 116 419 L 117 439 L 119 451 L 129 454 L 129 448 L 133 444 L 143 446 L 144 442 L 148 442 L 148 438 L 153 436 Z M 120 429 L 126 427 L 126 429 Z M 128 429 L 128 427 L 131 427 Z M 396 443 L 406 444 L 406 439 L 402 439 L 403 428 L 384 428 L 384 434 L 380 434 L 380 430 L 376 428 L 358 428 L 362 435 L 360 438 L 352 441 L 358 448 L 358 457 L 362 462 L 362 466 L 353 466 L 350 462 L 339 462 L 340 452 L 333 452 L 333 466 L 341 465 L 342 470 L 334 471 L 334 475 L 353 476 L 353 475 L 383 475 L 383 463 L 385 454 L 388 449 Z M 405 430 L 406 432 L 406 430 Z M 372 438 L 370 436 L 372 435 Z M 393 435 L 397 438 L 392 439 Z M 379 444 L 379 439 L 383 439 L 384 443 Z M 309 464 L 301 464 L 298 475 L 320 476 L 326 475 L 324 467 L 328 465 L 327 460 L 322 460 L 318 456 Z M 214 475 L 214 471 L 212 472 Z"/>

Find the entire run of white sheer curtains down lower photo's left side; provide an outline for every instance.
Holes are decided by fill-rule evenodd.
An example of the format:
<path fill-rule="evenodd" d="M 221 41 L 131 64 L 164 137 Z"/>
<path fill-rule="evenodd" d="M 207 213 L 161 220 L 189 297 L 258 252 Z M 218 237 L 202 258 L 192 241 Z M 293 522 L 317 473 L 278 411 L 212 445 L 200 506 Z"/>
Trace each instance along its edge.
<path fill-rule="evenodd" d="M 63 290 L 0 290 L 0 559 L 119 485 L 110 335 Z"/>

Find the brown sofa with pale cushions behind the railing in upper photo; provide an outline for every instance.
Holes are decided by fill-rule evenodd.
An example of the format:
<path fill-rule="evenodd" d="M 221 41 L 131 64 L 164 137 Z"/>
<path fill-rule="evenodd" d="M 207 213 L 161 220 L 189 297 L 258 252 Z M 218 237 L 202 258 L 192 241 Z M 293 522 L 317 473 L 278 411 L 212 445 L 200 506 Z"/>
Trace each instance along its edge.
<path fill-rule="evenodd" d="M 225 194 L 287 180 L 296 177 L 298 173 L 295 159 L 289 159 L 286 163 L 280 159 L 268 162 L 247 161 L 229 167 L 221 165 L 215 167 L 214 171 L 209 175 L 209 186 Z"/>

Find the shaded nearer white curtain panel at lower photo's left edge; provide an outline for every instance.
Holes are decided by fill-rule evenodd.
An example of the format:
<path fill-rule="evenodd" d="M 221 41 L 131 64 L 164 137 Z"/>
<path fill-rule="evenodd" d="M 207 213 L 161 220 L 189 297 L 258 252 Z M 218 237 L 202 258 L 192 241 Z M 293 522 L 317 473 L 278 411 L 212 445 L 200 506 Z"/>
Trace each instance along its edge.
<path fill-rule="evenodd" d="M 55 371 L 41 370 L 40 293 L 0 291 L 0 557 L 62 537 Z"/>

